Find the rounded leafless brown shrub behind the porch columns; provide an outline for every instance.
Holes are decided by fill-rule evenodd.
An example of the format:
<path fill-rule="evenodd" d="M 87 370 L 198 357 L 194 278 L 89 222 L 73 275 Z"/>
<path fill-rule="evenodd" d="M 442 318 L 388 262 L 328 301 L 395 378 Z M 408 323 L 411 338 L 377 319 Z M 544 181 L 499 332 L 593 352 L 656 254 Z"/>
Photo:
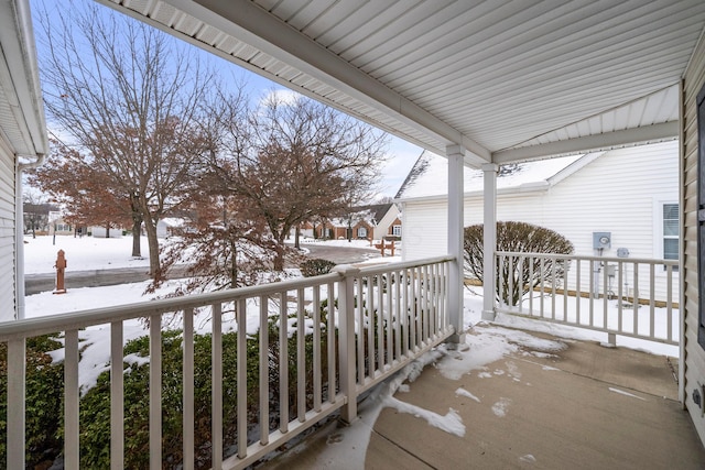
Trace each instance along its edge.
<path fill-rule="evenodd" d="M 481 223 L 466 227 L 463 242 L 465 270 L 480 282 L 485 273 L 482 229 Z M 497 251 L 572 254 L 573 243 L 562 234 L 544 227 L 516 221 L 497 222 Z M 520 272 L 518 259 L 514 259 L 510 272 L 509 263 L 506 263 L 501 272 L 498 271 L 495 280 L 497 299 L 507 305 L 517 305 L 521 302 L 522 292 L 533 289 L 541 284 L 542 278 L 546 282 L 563 278 L 568 267 L 563 260 L 545 260 L 543 270 L 539 269 L 538 259 L 533 259 L 533 272 L 530 272 L 530 262 L 524 262 Z M 510 278 L 512 280 L 511 292 L 509 291 Z"/>

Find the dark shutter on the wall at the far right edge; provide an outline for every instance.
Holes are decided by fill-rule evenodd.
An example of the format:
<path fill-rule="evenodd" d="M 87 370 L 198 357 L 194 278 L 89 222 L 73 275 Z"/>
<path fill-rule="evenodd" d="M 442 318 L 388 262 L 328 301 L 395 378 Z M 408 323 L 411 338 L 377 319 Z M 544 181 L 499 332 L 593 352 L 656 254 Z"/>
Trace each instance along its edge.
<path fill-rule="evenodd" d="M 697 94 L 697 342 L 705 348 L 705 86 Z"/>

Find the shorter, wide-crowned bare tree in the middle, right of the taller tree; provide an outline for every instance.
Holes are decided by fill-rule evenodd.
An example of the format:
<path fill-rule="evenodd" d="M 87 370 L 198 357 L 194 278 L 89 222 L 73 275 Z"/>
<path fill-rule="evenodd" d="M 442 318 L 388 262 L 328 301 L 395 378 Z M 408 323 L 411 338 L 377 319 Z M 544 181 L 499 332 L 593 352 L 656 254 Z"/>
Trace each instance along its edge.
<path fill-rule="evenodd" d="M 228 145 L 212 162 L 228 192 L 264 220 L 282 271 L 292 228 L 348 207 L 376 186 L 387 138 L 311 99 L 272 95 L 249 113 L 249 145 Z"/>

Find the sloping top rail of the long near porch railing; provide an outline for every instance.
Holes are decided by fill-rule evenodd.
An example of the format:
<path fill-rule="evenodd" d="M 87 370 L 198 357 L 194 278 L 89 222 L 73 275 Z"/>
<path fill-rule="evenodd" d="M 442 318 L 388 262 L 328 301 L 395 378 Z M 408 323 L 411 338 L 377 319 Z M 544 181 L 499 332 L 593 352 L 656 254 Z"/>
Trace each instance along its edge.
<path fill-rule="evenodd" d="M 359 273 L 360 275 L 373 275 L 388 271 L 403 270 L 452 260 L 454 260 L 453 256 L 446 255 L 402 263 L 389 263 L 381 266 L 365 267 L 361 269 Z M 301 277 L 214 293 L 193 294 L 183 297 L 145 300 L 127 305 L 12 320 L 0 324 L 0 342 L 54 334 L 57 331 L 86 328 L 95 325 L 105 325 L 111 321 L 145 318 L 167 311 L 187 310 L 224 302 L 235 302 L 241 298 L 274 295 L 281 292 L 295 291 L 304 287 L 321 286 L 330 282 L 339 281 L 341 275 L 343 274 L 340 273 L 334 272 L 321 276 Z"/>

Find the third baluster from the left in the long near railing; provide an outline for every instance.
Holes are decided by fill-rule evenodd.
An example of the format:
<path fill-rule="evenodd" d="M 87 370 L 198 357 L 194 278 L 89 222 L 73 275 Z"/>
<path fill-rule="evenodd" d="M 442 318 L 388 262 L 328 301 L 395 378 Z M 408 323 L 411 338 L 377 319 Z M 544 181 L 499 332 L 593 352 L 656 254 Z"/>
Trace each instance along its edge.
<path fill-rule="evenodd" d="M 110 469 L 124 468 L 124 378 L 122 321 L 110 324 Z"/>

